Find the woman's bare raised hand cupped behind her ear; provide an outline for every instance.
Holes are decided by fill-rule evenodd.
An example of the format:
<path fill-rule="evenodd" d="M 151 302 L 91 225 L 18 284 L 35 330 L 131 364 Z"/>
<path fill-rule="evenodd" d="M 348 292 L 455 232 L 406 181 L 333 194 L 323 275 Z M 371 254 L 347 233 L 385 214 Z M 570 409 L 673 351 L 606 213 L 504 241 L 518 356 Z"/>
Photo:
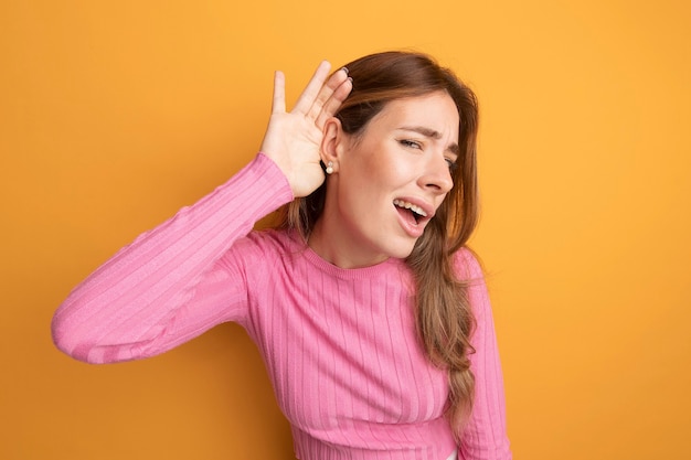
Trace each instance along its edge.
<path fill-rule="evenodd" d="M 295 108 L 286 111 L 285 76 L 276 72 L 274 101 L 262 152 L 286 174 L 296 197 L 312 193 L 325 180 L 319 149 L 325 122 L 336 114 L 352 89 L 344 68 L 328 77 L 331 64 L 317 67 Z"/>

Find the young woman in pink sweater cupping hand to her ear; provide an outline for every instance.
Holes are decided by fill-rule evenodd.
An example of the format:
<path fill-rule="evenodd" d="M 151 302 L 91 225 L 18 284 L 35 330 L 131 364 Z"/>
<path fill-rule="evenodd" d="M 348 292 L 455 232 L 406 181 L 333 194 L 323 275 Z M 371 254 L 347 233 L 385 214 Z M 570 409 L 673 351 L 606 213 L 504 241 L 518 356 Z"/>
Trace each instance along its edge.
<path fill-rule="evenodd" d="M 261 153 L 139 236 L 55 313 L 111 363 L 242 324 L 305 460 L 510 459 L 477 221 L 474 94 L 416 53 L 322 63 Z M 275 229 L 253 231 L 279 210 Z"/>

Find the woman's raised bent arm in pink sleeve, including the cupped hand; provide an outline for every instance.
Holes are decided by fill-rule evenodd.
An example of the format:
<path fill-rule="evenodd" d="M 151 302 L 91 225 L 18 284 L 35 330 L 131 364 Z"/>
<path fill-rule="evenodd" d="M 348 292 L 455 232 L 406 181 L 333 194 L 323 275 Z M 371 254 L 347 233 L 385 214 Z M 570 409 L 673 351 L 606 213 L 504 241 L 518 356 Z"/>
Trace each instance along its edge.
<path fill-rule="evenodd" d="M 78 285 L 53 318 L 60 350 L 89 363 L 135 360 L 242 319 L 246 287 L 230 279 L 220 259 L 256 221 L 323 181 L 321 129 L 352 87 L 346 72 L 327 78 L 328 72 L 325 62 L 290 113 L 276 73 L 263 153 Z"/>

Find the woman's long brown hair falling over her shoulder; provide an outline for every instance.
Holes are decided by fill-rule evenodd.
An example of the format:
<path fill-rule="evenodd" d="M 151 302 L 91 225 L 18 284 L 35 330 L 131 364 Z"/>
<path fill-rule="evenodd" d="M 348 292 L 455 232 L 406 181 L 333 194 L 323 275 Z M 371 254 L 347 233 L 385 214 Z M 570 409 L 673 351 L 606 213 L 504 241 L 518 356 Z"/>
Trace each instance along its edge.
<path fill-rule="evenodd" d="M 406 258 L 416 281 L 417 332 L 429 360 L 449 373 L 447 415 L 457 437 L 472 406 L 475 378 L 468 355 L 475 318 L 467 296 L 469 281 L 459 280 L 453 255 L 464 247 L 478 220 L 475 94 L 451 71 L 421 53 L 371 54 L 346 65 L 353 89 L 336 117 L 343 131 L 360 136 L 369 121 L 395 99 L 446 92 L 458 109 L 459 156 L 451 175 L 454 188 L 427 224 Z M 312 194 L 284 206 L 283 228 L 308 238 L 321 215 L 326 182 Z"/>

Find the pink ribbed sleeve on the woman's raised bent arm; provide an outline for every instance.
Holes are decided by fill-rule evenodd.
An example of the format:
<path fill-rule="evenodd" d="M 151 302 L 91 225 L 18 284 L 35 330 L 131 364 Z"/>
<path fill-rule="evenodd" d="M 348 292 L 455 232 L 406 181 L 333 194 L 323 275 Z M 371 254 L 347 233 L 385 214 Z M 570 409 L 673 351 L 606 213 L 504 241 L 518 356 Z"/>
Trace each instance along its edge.
<path fill-rule="evenodd" d="M 128 361 L 241 319 L 244 280 L 228 279 L 219 260 L 259 218 L 290 200 L 286 178 L 259 153 L 78 285 L 53 317 L 56 346 L 89 363 Z"/>

